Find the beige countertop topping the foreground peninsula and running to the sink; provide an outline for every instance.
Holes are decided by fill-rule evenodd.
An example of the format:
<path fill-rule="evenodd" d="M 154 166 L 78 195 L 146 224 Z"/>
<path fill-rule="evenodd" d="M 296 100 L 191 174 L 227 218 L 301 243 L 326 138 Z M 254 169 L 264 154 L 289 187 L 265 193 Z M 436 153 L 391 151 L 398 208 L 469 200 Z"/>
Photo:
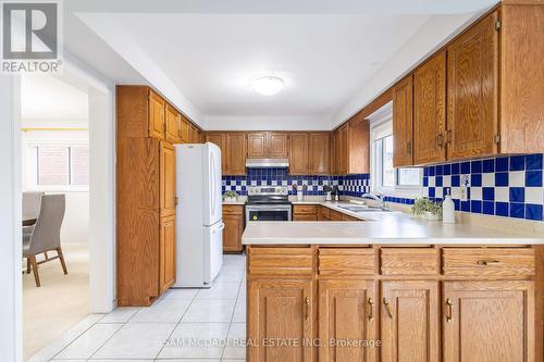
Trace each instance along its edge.
<path fill-rule="evenodd" d="M 339 208 L 346 201 L 319 202 L 363 222 L 249 222 L 244 245 L 534 245 L 544 244 L 544 234 L 524 234 L 484 226 L 485 224 L 443 224 L 416 219 L 403 212 L 349 212 Z M 294 203 L 296 204 L 296 203 Z"/>

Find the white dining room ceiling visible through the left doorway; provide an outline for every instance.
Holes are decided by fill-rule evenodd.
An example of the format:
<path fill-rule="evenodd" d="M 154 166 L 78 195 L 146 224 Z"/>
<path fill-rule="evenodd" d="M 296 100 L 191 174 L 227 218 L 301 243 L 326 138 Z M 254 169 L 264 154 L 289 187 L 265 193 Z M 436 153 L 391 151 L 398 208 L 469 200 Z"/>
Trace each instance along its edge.
<path fill-rule="evenodd" d="M 88 122 L 88 95 L 58 78 L 23 76 L 21 95 L 23 126 L 36 122 L 44 127 L 57 125 L 57 121 L 63 124 Z"/>

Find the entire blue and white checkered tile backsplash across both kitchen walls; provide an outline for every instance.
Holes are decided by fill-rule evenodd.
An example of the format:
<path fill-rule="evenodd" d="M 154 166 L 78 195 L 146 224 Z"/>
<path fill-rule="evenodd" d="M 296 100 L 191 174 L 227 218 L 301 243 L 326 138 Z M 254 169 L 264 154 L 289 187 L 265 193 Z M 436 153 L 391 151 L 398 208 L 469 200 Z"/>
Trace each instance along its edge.
<path fill-rule="evenodd" d="M 423 196 L 441 201 L 452 192 L 456 210 L 486 215 L 544 221 L 543 154 L 498 157 L 426 166 Z M 458 196 L 467 184 L 467 201 Z M 248 186 L 307 185 L 306 195 L 322 196 L 324 185 L 360 197 L 370 191 L 370 175 L 292 176 L 286 168 L 248 168 L 246 176 L 223 176 L 223 192 L 247 195 Z M 412 204 L 411 198 L 385 197 L 387 202 Z"/>

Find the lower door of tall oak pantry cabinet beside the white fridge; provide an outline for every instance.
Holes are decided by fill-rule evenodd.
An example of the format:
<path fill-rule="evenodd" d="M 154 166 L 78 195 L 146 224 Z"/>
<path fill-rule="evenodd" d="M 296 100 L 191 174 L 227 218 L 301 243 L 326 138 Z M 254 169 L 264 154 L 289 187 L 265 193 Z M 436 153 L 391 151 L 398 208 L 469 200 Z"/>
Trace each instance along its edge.
<path fill-rule="evenodd" d="M 160 232 L 160 263 L 159 263 L 159 288 L 160 292 L 166 291 L 174 283 L 176 277 L 176 236 L 175 236 L 175 215 L 161 219 Z"/>

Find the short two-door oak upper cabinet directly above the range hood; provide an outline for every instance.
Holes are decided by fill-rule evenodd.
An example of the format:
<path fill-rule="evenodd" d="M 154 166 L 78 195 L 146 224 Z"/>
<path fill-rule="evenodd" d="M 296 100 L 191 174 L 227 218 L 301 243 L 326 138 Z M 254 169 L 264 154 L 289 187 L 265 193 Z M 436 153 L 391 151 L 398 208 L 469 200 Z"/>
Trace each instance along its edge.
<path fill-rule="evenodd" d="M 285 159 L 288 157 L 288 135 L 277 132 L 250 132 L 247 134 L 249 159 Z"/>

